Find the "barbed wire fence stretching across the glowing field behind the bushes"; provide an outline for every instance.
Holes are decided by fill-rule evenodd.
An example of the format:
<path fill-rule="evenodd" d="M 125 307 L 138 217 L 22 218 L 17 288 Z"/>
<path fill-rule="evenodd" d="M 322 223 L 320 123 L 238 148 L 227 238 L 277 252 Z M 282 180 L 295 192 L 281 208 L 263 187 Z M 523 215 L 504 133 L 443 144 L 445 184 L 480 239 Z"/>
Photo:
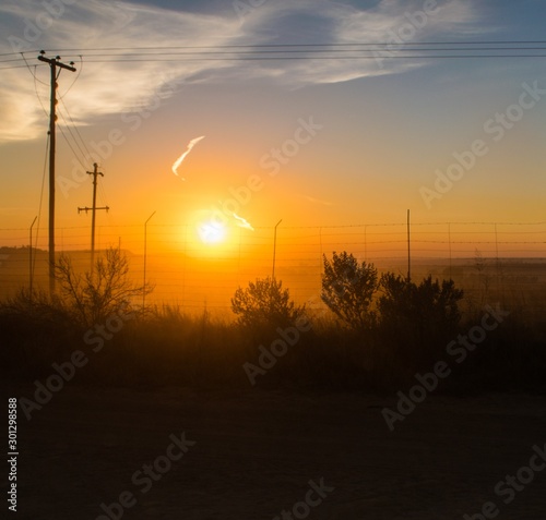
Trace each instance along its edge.
<path fill-rule="evenodd" d="M 0 294 L 28 286 L 47 288 L 47 230 L 0 229 Z M 496 289 L 539 306 L 546 288 L 546 222 L 406 222 L 289 227 L 253 231 L 232 227 L 218 243 L 203 242 L 186 225 L 97 226 L 96 250 L 121 247 L 134 282 L 155 286 L 149 303 L 187 311 L 229 311 L 237 287 L 272 276 L 298 302 L 318 304 L 323 255 L 347 251 L 380 271 L 418 280 L 454 279 L 474 295 Z M 70 254 L 79 269 L 90 267 L 87 226 L 58 228 L 58 254 Z M 275 247 L 275 252 L 274 252 Z M 145 251 L 145 255 L 144 255 Z M 500 293 L 499 292 L 499 293 Z"/>

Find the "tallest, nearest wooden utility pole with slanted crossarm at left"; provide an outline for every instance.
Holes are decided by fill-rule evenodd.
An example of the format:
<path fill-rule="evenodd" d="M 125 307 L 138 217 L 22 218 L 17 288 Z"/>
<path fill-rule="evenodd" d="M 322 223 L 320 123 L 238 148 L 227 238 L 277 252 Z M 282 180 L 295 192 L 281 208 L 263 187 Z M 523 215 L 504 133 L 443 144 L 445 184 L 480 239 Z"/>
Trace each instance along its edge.
<path fill-rule="evenodd" d="M 55 113 L 57 108 L 57 78 L 59 77 L 60 70 L 75 72 L 73 61 L 69 65 L 61 63 L 60 56 L 55 58 L 46 58 L 44 50 L 38 56 L 39 61 L 49 63 L 51 72 L 51 102 L 49 109 L 49 293 L 55 292 L 55 122 L 57 116 Z M 57 69 L 59 71 L 57 72 Z"/>

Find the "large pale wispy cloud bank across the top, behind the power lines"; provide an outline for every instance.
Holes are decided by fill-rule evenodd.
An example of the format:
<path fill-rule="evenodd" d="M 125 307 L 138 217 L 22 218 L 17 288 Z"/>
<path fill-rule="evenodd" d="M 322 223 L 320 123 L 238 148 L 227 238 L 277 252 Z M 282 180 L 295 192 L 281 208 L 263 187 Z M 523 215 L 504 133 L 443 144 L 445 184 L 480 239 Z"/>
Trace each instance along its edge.
<path fill-rule="evenodd" d="M 19 0 L 16 4 L 0 4 L 0 52 L 13 50 L 14 38 L 20 43 L 28 33 L 28 22 L 34 23 L 41 2 Z M 438 10 L 426 27 L 413 39 L 460 36 L 483 31 L 482 14 L 477 2 L 470 0 L 438 0 Z M 134 60 L 135 47 L 166 46 L 226 46 L 295 44 L 346 44 L 355 41 L 383 43 L 390 31 L 406 22 L 406 13 L 423 9 L 423 1 L 381 0 L 371 8 L 356 8 L 343 1 L 329 0 L 275 0 L 252 10 L 245 20 L 235 11 L 183 12 L 129 1 L 107 2 L 90 0 L 64 5 L 51 24 L 31 34 L 23 50 L 46 49 L 59 53 L 64 60 L 80 62 L 83 72 L 67 95 L 71 114 L 80 124 L 88 123 L 100 114 L 119 113 L 134 107 L 146 106 L 158 95 L 165 83 L 165 63 L 158 61 L 118 61 L 98 63 L 105 56 L 92 48 L 124 48 L 117 60 Z M 44 11 L 46 12 L 46 11 Z M 47 14 L 47 12 L 46 12 Z M 158 38 L 161 35 L 161 38 Z M 11 37 L 11 39 L 10 39 Z M 32 40 L 32 41 L 31 41 Z M 24 41 L 23 41 L 24 43 Z M 83 49 L 82 49 L 83 47 Z M 69 50 L 66 50 L 69 49 Z M 71 49 L 78 49 L 76 51 Z M 180 49 L 181 50 L 181 49 Z M 150 56 L 140 58 L 151 58 Z M 111 55 L 105 51 L 103 55 Z M 27 55 L 32 66 L 37 64 Z M 182 59 L 182 57 L 185 59 Z M 179 61 L 168 63 L 170 77 L 180 83 L 200 83 L 269 77 L 288 86 L 316 83 L 336 83 L 359 77 L 401 73 L 426 65 L 407 60 L 392 61 L 379 68 L 375 60 L 268 60 L 268 61 L 211 61 L 180 55 Z M 193 57 L 194 58 L 194 57 Z M 81 69 L 81 65 L 79 65 Z M 40 66 L 36 73 L 37 90 L 47 106 L 48 73 Z M 63 72 L 59 92 L 62 93 L 75 78 Z M 44 81 L 44 85 L 39 83 Z M 162 94 L 164 96 L 166 94 Z M 36 98 L 34 80 L 24 69 L 4 70 L 0 78 L 0 141 L 35 138 L 44 132 L 46 116 Z M 73 108 L 72 108 L 73 107 Z"/>

